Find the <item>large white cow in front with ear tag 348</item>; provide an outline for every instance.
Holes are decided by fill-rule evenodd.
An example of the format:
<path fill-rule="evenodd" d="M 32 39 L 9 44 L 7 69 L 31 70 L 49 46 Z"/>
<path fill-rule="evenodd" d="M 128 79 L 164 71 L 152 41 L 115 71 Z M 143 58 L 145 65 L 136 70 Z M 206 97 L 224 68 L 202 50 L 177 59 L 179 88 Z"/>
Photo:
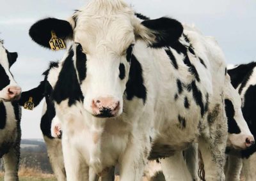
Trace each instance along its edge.
<path fill-rule="evenodd" d="M 194 142 L 206 180 L 224 180 L 220 47 L 177 20 L 141 17 L 123 1 L 95 0 L 70 22 L 46 18 L 29 31 L 48 48 L 51 31 L 74 41 L 51 83 L 67 180 L 81 180 L 89 167 L 104 175 L 116 164 L 120 180 L 140 180 L 147 159 L 163 157 L 166 180 L 191 180 L 182 150 Z"/>

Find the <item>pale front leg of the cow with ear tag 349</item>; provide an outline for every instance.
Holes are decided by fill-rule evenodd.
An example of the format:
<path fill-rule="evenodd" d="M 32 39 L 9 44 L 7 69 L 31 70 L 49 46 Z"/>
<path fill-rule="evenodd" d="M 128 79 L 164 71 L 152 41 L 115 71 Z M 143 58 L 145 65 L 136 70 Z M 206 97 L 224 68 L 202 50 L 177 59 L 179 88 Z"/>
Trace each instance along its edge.
<path fill-rule="evenodd" d="M 63 153 L 62 153 L 62 145 L 60 139 L 50 139 L 44 136 L 44 141 L 47 147 L 47 153 L 49 156 L 49 161 L 52 166 L 52 170 L 54 172 L 55 177 L 58 181 L 67 180 Z"/>

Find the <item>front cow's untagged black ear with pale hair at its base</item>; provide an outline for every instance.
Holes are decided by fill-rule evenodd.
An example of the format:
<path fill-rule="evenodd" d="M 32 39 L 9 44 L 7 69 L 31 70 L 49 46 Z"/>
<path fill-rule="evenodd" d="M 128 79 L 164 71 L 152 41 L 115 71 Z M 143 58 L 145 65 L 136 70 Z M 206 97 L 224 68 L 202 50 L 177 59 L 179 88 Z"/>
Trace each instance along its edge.
<path fill-rule="evenodd" d="M 183 26 L 172 18 L 162 17 L 155 20 L 145 20 L 134 28 L 136 37 L 148 42 L 150 47 L 169 47 L 179 40 Z"/>

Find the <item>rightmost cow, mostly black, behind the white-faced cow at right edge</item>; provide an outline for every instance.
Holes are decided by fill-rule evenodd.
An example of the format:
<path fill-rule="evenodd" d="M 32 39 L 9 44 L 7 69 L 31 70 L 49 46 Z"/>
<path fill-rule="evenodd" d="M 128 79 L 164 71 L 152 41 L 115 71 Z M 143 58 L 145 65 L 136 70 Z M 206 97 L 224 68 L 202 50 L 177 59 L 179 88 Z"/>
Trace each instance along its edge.
<path fill-rule="evenodd" d="M 241 96 L 244 119 L 253 136 L 256 136 L 256 113 L 254 112 L 256 107 L 256 62 L 229 68 L 228 75 L 230 75 L 232 85 Z M 233 163 L 232 169 L 236 171 L 233 171 L 233 174 L 230 173 L 230 175 L 233 175 L 234 178 L 239 178 L 243 164 L 243 174 L 246 180 L 255 180 L 255 152 L 256 145 L 253 145 L 253 147 L 239 152 L 238 156 L 241 156 L 243 161 L 237 155 L 234 156 L 237 161 Z"/>

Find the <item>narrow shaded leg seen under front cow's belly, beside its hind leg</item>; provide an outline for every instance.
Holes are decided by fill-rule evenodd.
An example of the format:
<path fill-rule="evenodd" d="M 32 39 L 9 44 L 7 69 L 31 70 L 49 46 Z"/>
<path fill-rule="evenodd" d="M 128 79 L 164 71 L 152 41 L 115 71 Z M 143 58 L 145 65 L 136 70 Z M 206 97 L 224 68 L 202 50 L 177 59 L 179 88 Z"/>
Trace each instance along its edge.
<path fill-rule="evenodd" d="M 184 151 L 184 158 L 193 180 L 198 180 L 198 144 L 193 143 Z"/>

